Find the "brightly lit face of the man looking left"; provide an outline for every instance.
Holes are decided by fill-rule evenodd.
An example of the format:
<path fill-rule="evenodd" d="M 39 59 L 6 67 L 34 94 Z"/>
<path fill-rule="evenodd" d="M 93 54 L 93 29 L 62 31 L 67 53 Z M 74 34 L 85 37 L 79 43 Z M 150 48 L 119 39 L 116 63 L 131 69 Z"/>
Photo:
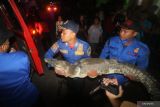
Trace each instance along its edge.
<path fill-rule="evenodd" d="M 75 37 L 74 35 L 74 32 L 72 32 L 71 30 L 64 29 L 61 33 L 61 39 L 63 42 L 69 42 Z"/>

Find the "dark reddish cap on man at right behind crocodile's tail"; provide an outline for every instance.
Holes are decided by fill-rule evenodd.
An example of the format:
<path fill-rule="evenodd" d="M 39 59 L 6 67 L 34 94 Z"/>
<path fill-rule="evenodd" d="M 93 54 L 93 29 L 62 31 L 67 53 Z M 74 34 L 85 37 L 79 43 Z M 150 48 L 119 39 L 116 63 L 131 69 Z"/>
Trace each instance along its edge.
<path fill-rule="evenodd" d="M 134 30 L 136 32 L 140 31 L 140 24 L 136 21 L 133 20 L 126 20 L 122 25 L 122 28 L 127 28 L 127 29 L 131 29 Z"/>

